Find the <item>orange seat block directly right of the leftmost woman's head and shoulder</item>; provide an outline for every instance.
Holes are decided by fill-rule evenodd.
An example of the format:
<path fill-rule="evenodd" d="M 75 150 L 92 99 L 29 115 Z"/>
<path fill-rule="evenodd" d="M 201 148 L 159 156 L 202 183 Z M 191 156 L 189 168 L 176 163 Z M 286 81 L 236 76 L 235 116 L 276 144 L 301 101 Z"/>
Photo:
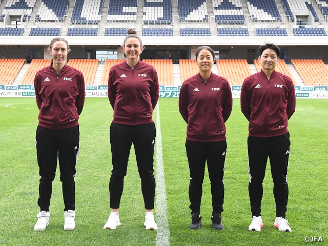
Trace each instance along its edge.
<path fill-rule="evenodd" d="M 98 59 L 69 59 L 67 65 L 81 71 L 84 75 L 85 84 L 92 85 L 96 75 L 98 62 Z"/>

